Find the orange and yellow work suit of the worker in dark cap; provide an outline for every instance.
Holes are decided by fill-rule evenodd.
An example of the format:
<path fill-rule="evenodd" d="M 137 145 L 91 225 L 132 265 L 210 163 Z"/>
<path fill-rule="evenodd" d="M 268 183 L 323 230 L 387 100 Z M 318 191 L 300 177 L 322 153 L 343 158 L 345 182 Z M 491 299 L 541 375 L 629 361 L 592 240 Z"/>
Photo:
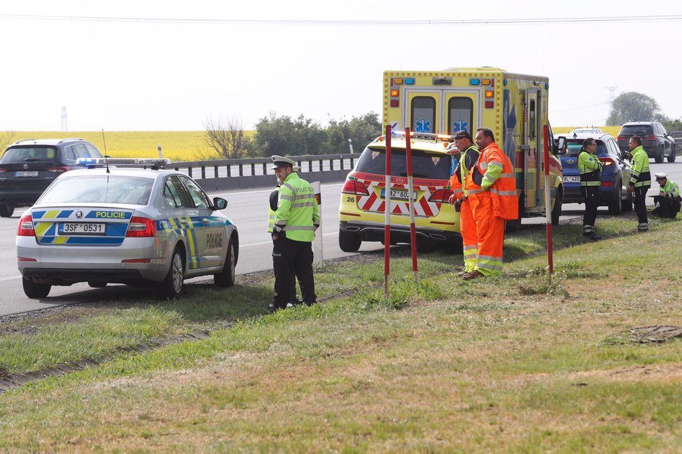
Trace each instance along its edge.
<path fill-rule="evenodd" d="M 450 177 L 450 189 L 453 190 L 455 200 L 460 200 L 464 196 L 462 180 L 467 178 L 471 169 L 467 169 L 466 157 L 469 153 L 475 153 L 478 157 L 478 148 L 471 146 L 462 153 L 460 165 L 455 169 L 455 173 Z M 472 162 L 476 162 L 472 159 Z M 462 255 L 464 256 L 464 271 L 471 272 L 476 267 L 476 257 L 478 256 L 478 233 L 476 233 L 476 222 L 473 221 L 471 203 L 469 198 L 464 198 L 460 203 L 460 234 L 462 235 Z"/>

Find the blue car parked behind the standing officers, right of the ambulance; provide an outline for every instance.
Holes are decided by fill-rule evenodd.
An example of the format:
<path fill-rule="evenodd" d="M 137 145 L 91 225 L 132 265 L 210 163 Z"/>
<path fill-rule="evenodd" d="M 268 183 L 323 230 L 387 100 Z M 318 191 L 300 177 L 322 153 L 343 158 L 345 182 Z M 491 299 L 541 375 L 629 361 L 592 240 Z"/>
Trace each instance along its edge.
<path fill-rule="evenodd" d="M 583 202 L 577 162 L 582 143 L 587 138 L 597 142 L 595 154 L 604 164 L 599 187 L 600 205 L 607 205 L 610 214 L 631 211 L 632 197 L 628 194 L 630 163 L 626 160 L 626 153 L 618 148 L 609 134 L 573 134 L 566 137 L 567 148 L 559 155 L 563 167 L 563 203 Z"/>

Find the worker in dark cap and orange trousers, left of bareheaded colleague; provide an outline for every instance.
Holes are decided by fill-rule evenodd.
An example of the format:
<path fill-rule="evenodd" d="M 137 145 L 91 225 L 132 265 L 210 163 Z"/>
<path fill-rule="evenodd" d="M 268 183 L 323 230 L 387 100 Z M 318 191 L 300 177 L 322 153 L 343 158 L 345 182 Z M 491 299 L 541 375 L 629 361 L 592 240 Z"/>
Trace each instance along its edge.
<path fill-rule="evenodd" d="M 462 235 L 462 254 L 464 255 L 464 271 L 457 273 L 457 276 L 464 276 L 473 271 L 476 266 L 476 256 L 478 256 L 478 235 L 476 235 L 476 223 L 473 221 L 471 204 L 464 196 L 464 180 L 469 175 L 478 160 L 478 148 L 473 145 L 471 134 L 467 130 L 455 133 L 455 146 L 452 150 L 460 153 L 460 162 L 450 177 L 450 189 L 453 195 L 450 196 L 450 205 L 455 205 L 455 211 L 460 212 L 460 234 Z"/>

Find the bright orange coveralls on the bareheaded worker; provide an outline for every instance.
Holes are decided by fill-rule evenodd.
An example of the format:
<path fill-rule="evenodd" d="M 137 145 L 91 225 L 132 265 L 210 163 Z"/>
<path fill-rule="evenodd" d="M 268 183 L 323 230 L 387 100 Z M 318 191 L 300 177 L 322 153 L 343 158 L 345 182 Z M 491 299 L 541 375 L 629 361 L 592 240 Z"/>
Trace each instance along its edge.
<path fill-rule="evenodd" d="M 491 143 L 464 181 L 478 234 L 474 269 L 484 276 L 502 274 L 504 221 L 519 217 L 516 175 L 510 159 Z"/>

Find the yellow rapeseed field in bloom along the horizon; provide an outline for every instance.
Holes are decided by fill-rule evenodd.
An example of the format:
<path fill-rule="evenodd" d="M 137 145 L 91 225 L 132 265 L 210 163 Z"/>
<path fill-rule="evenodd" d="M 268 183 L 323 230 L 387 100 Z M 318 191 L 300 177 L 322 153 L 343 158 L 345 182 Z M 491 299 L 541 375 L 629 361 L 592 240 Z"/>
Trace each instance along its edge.
<path fill-rule="evenodd" d="M 616 136 L 619 126 L 600 126 L 607 134 Z M 569 132 L 573 127 L 556 127 L 554 132 Z M 248 131 L 253 136 L 255 131 Z M 112 157 L 158 157 L 157 146 L 161 145 L 163 157 L 172 161 L 201 161 L 218 159 L 213 150 L 204 143 L 205 131 L 17 131 L 12 133 L 13 141 L 19 139 L 63 139 L 80 137 L 93 143 L 102 154 Z M 105 146 L 106 142 L 106 146 Z"/>

